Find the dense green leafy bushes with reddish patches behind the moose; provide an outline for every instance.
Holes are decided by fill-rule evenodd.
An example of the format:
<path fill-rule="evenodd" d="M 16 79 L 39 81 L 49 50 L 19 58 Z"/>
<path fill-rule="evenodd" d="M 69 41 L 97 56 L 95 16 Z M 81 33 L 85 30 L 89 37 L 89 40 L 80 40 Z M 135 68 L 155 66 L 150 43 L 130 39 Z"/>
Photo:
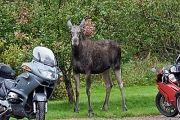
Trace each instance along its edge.
<path fill-rule="evenodd" d="M 13 68 L 30 61 L 32 49 L 42 45 L 53 50 L 65 81 L 71 81 L 68 20 L 75 24 L 91 20 L 92 40 L 113 39 L 121 45 L 125 86 L 152 80 L 146 68 L 158 61 L 147 58 L 172 62 L 180 53 L 178 0 L 0 0 L 0 4 L 0 61 Z M 93 79 L 102 84 L 99 75 Z"/>

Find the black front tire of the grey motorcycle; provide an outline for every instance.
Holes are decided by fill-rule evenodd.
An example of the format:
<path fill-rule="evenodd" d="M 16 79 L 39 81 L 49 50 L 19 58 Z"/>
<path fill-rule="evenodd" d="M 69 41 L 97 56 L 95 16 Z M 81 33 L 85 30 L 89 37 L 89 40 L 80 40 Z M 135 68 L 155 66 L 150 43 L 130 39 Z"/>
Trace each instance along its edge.
<path fill-rule="evenodd" d="M 37 102 L 36 120 L 45 120 L 46 102 Z"/>

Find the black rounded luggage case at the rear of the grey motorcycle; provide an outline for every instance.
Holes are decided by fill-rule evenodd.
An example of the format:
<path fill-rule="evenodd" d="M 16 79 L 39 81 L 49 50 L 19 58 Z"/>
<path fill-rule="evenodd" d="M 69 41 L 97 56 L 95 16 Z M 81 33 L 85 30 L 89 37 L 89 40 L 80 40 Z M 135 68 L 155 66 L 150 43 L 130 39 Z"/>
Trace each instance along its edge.
<path fill-rule="evenodd" d="M 15 76 L 16 73 L 10 66 L 0 63 L 0 77 L 14 79 Z"/>

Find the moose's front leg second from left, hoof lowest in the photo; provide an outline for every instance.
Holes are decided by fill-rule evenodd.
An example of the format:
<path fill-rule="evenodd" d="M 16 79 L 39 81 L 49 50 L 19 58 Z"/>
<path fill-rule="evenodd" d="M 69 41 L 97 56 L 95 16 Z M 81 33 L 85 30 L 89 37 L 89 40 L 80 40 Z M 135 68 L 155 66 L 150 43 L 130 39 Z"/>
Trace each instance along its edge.
<path fill-rule="evenodd" d="M 93 113 L 93 110 L 92 110 L 92 107 L 91 107 L 91 78 L 90 78 L 90 72 L 86 73 L 86 94 L 87 94 L 87 97 L 88 97 L 88 116 L 92 116 L 94 113 Z"/>

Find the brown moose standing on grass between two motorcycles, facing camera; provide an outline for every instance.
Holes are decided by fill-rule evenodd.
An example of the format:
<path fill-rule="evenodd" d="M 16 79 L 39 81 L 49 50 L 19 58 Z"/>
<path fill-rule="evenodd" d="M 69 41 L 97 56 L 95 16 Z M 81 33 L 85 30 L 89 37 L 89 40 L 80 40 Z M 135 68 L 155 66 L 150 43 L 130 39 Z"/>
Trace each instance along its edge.
<path fill-rule="evenodd" d="M 123 92 L 123 81 L 121 79 L 121 48 L 119 44 L 113 40 L 97 40 L 92 41 L 83 33 L 85 19 L 79 25 L 72 25 L 68 20 L 67 25 L 70 28 L 71 38 L 71 63 L 73 67 L 73 76 L 76 85 L 76 99 L 74 112 L 79 112 L 79 92 L 80 92 L 80 74 L 85 75 L 86 94 L 88 97 L 88 116 L 92 116 L 93 110 L 90 101 L 91 74 L 102 73 L 106 85 L 106 97 L 102 110 L 108 109 L 108 101 L 112 89 L 112 81 L 110 79 L 110 68 L 114 71 L 117 82 L 122 95 L 122 110 L 126 111 L 126 104 Z"/>

